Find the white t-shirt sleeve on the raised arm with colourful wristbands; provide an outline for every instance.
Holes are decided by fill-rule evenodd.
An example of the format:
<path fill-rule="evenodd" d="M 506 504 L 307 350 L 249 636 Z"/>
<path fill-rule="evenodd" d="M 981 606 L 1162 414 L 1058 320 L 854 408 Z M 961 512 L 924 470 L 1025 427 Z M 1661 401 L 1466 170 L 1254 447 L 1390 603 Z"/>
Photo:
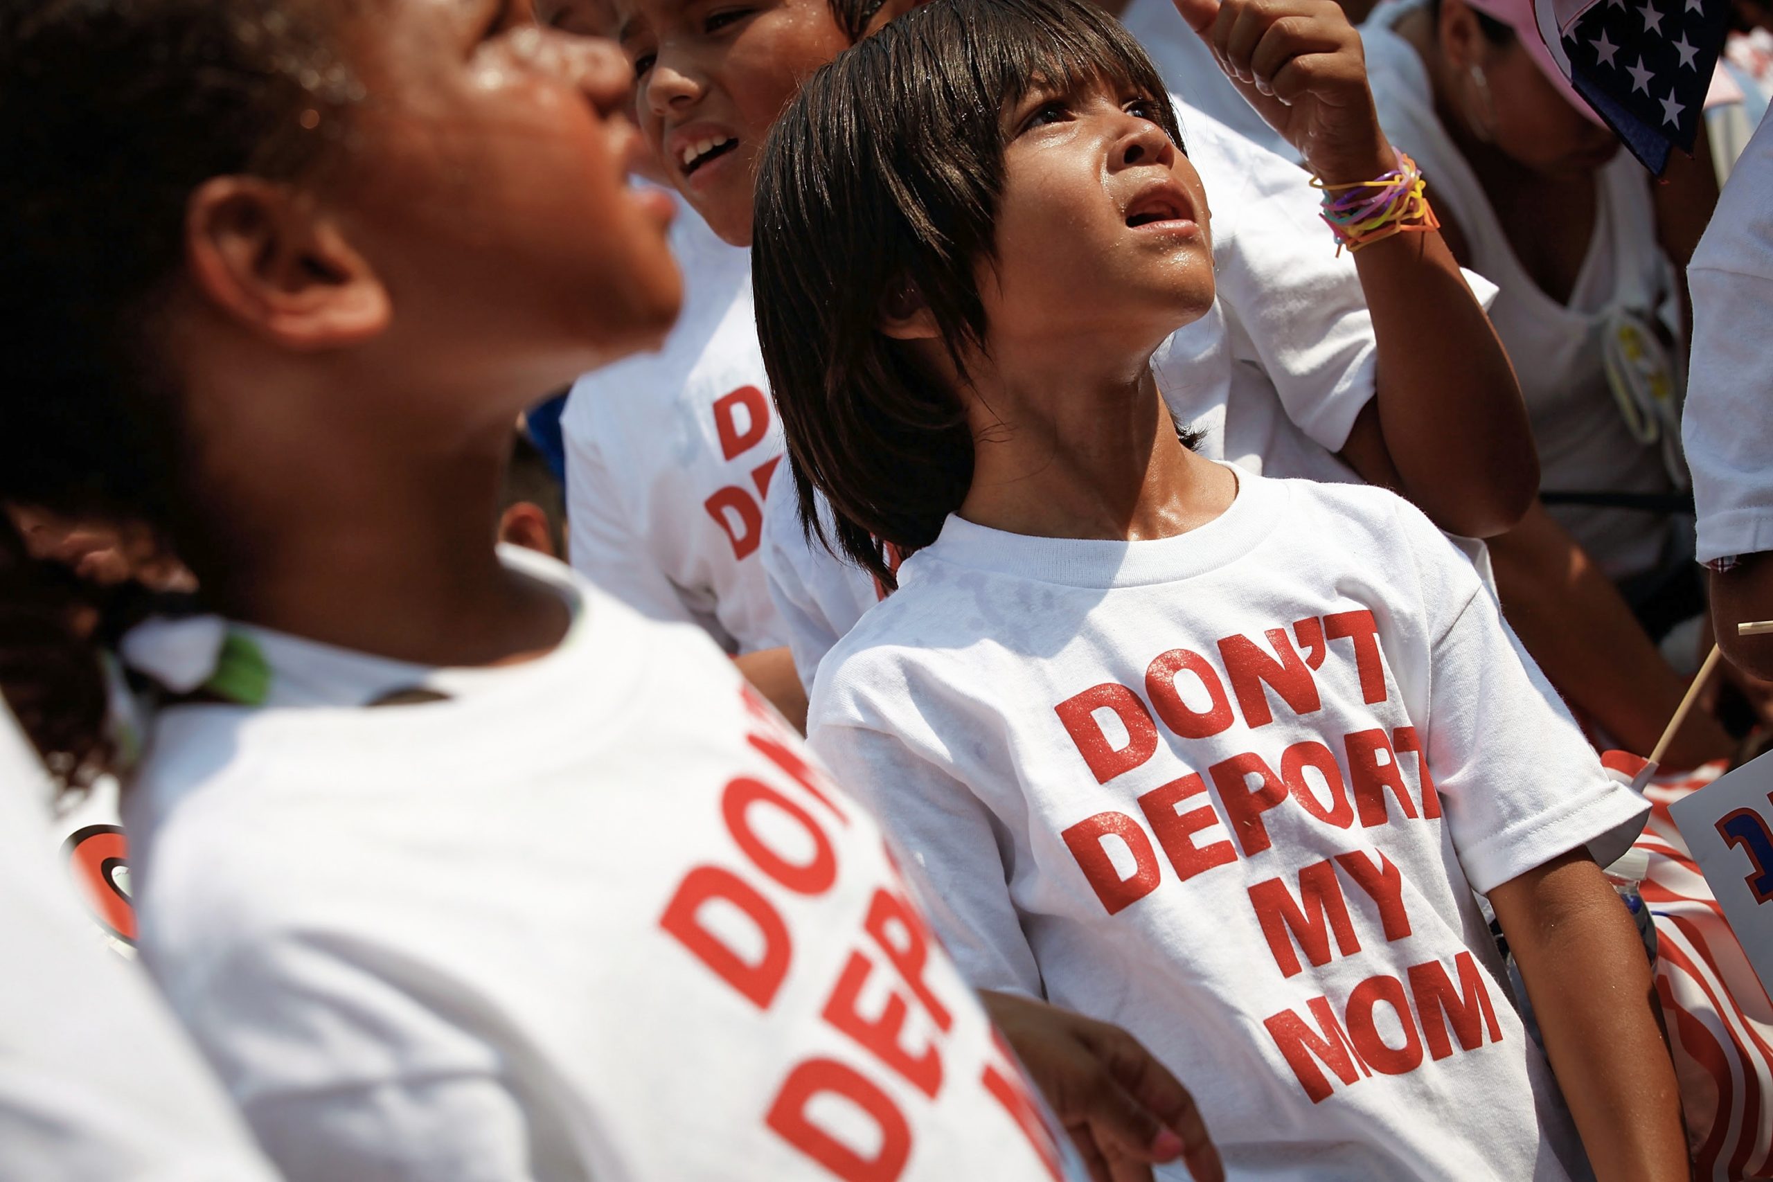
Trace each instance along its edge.
<path fill-rule="evenodd" d="M 1337 257 L 1298 165 L 1255 144 L 1197 138 L 1215 223 L 1232 206 L 1229 250 L 1215 257 L 1218 296 L 1245 330 L 1239 360 L 1268 374 L 1287 418 L 1340 452 L 1378 388 L 1372 314 L 1355 261 Z"/>

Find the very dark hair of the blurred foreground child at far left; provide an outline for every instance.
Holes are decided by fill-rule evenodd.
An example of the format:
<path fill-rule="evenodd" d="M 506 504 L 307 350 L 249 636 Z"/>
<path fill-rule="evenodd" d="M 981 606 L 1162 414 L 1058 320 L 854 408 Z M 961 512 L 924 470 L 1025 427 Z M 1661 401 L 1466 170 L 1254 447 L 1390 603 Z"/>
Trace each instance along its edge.
<path fill-rule="evenodd" d="M 0 503 L 174 525 L 179 399 L 154 312 L 186 202 L 209 177 L 285 179 L 321 158 L 355 97 L 342 14 L 0 0 Z M 0 512 L 0 691 L 57 769 L 105 757 L 90 627 L 71 618 L 94 595 Z"/>

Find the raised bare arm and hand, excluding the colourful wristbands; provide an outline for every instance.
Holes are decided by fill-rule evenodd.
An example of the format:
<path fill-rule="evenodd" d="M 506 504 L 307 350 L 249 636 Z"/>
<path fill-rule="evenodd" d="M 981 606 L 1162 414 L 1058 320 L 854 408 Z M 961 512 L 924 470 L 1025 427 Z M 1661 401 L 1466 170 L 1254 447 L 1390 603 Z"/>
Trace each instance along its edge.
<path fill-rule="evenodd" d="M 1395 167 L 1367 87 L 1360 34 L 1333 0 L 1175 0 L 1243 96 L 1324 184 Z M 1328 232 L 1326 232 L 1326 250 Z M 1539 487 L 1509 356 L 1438 232 L 1355 253 L 1372 310 L 1378 397 L 1344 459 L 1454 533 L 1491 537 Z"/>

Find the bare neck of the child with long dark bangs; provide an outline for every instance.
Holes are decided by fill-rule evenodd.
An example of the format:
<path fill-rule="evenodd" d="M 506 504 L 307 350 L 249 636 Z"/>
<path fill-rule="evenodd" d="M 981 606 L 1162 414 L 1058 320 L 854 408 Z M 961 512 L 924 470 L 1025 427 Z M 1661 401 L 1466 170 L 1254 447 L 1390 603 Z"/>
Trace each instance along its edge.
<path fill-rule="evenodd" d="M 1135 370 L 975 374 L 973 482 L 959 516 L 1034 537 L 1174 537 L 1225 512 L 1232 475 L 1175 436 L 1149 362 Z"/>

